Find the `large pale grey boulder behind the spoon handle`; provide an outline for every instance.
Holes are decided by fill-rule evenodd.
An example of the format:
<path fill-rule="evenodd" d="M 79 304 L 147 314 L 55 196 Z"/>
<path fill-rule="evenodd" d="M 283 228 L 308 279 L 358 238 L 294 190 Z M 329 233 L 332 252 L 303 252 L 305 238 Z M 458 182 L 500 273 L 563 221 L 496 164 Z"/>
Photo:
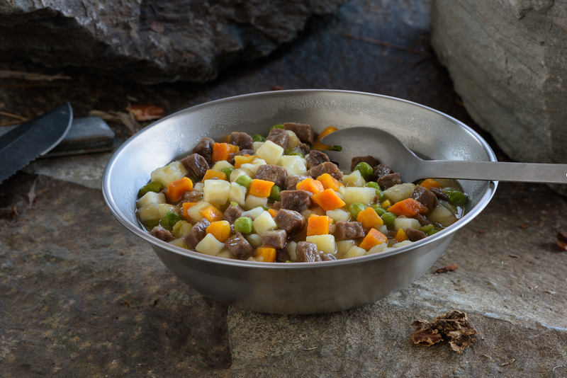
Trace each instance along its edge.
<path fill-rule="evenodd" d="M 567 163 L 567 4 L 432 1 L 432 46 L 466 110 L 512 159 Z"/>

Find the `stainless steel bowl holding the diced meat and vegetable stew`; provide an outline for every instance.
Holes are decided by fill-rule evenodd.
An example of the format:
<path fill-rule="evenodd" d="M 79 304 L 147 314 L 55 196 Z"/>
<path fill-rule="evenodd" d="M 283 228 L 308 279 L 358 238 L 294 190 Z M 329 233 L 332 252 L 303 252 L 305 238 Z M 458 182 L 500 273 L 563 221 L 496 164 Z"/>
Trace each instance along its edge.
<path fill-rule="evenodd" d="M 254 311 L 318 314 L 376 302 L 417 280 L 441 256 L 455 232 L 488 205 L 498 185 L 461 181 L 470 198 L 468 212 L 422 241 L 371 256 L 320 263 L 257 263 L 207 256 L 140 229 L 137 192 L 155 168 L 186 156 L 203 137 L 218 139 L 232 131 L 266 134 L 271 125 L 282 122 L 309 123 L 317 132 L 329 125 L 381 127 L 420 156 L 496 161 L 492 149 L 471 128 L 409 101 L 351 91 L 255 93 L 182 110 L 128 139 L 104 171 L 106 205 L 126 229 L 152 246 L 169 270 L 203 295 Z"/>

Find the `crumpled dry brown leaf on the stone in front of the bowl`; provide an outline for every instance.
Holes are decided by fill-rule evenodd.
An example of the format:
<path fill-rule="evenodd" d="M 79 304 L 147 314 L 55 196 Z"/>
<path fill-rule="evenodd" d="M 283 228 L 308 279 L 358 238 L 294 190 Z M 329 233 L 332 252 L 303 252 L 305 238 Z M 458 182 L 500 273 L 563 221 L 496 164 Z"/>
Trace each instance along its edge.
<path fill-rule="evenodd" d="M 466 314 L 456 310 L 437 316 L 431 323 L 416 320 L 412 326 L 417 329 L 410 336 L 412 344 L 431 346 L 439 341 L 448 340 L 451 349 L 459 355 L 474 343 L 472 335 L 478 333 L 469 323 Z"/>

